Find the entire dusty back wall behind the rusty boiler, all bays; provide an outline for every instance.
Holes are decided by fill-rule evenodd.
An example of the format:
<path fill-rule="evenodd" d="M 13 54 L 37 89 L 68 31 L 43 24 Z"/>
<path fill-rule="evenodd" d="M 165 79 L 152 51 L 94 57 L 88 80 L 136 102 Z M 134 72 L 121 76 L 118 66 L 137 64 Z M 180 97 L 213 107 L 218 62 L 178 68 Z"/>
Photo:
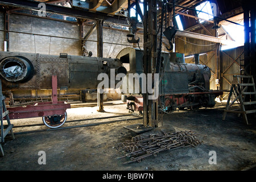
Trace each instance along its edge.
<path fill-rule="evenodd" d="M 5 14 L 0 13 L 0 29 L 5 29 Z M 90 26 L 84 26 L 84 34 L 90 29 Z M 81 55 L 80 25 L 77 23 L 63 22 L 59 20 L 39 18 L 35 16 L 10 14 L 10 31 L 27 32 L 29 34 L 19 34 L 10 32 L 9 51 L 10 52 L 31 52 L 46 55 L 59 55 L 60 53 L 68 53 L 69 55 Z M 116 45 L 115 43 L 129 45 L 127 42 L 127 31 L 117 31 L 104 28 L 103 30 L 104 57 L 115 57 L 119 51 L 127 46 Z M 40 36 L 33 34 L 42 34 L 48 36 Z M 61 36 L 74 39 L 54 38 L 51 36 Z M 5 34 L 0 31 L 0 51 L 3 51 L 3 42 Z M 97 31 L 89 37 L 86 43 L 86 49 L 93 52 L 93 56 L 97 56 Z M 114 43 L 114 44 L 112 44 Z M 132 46 L 132 44 L 130 44 Z M 14 98 L 28 97 L 49 97 L 50 90 L 20 90 L 13 91 Z M 61 94 L 80 94 L 80 90 L 68 90 Z M 121 94 L 108 94 L 109 98 L 114 100 L 121 99 Z M 77 97 L 80 100 L 79 97 Z M 90 95 L 86 96 L 87 100 L 95 100 Z M 108 98 L 106 98 L 108 99 Z"/>

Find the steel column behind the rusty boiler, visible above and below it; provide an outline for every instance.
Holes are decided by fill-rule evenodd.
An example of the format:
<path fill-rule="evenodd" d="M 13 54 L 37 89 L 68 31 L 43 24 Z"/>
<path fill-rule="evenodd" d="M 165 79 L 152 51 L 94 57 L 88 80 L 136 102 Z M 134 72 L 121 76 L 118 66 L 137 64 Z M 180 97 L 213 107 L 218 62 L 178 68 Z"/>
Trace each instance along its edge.
<path fill-rule="evenodd" d="M 97 23 L 97 56 L 103 57 L 103 20 L 98 20 Z M 98 106 L 98 112 L 104 112 L 104 106 L 103 106 L 103 100 L 104 100 L 104 94 L 100 93 L 101 89 L 97 89 L 97 106 Z"/>

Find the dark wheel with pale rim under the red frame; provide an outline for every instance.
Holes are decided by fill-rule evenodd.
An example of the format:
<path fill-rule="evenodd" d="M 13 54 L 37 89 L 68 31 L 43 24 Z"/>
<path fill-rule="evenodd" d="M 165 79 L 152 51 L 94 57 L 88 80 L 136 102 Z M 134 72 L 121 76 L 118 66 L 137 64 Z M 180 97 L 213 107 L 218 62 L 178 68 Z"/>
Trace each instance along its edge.
<path fill-rule="evenodd" d="M 67 121 L 67 112 L 65 111 L 64 115 L 50 115 L 48 117 L 42 117 L 44 125 L 56 129 L 57 127 L 62 126 L 65 121 Z"/>

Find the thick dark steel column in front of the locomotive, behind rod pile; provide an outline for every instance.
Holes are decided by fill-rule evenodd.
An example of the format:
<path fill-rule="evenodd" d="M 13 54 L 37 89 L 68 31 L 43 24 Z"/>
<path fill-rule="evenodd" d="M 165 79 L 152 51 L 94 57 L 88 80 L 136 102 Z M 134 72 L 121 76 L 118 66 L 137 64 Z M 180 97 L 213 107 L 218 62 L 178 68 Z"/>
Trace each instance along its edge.
<path fill-rule="evenodd" d="M 143 68 L 144 73 L 152 73 L 154 75 L 156 66 L 157 51 L 157 11 L 156 0 L 144 1 L 144 44 L 143 44 Z M 148 13 L 150 12 L 150 13 Z M 154 79 L 154 76 L 153 78 Z M 152 85 L 147 85 L 147 89 Z M 158 127 L 158 99 L 148 100 L 148 91 L 143 94 L 143 125 L 150 127 Z"/>

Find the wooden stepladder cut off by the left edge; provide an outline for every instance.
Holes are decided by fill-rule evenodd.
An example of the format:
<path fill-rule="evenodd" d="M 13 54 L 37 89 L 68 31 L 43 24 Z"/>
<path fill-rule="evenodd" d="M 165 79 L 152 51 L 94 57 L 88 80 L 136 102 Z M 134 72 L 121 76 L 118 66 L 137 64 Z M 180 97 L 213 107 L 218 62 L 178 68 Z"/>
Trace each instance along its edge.
<path fill-rule="evenodd" d="M 5 105 L 5 96 L 2 93 L 2 82 L 0 80 L 0 107 L 1 107 L 1 138 L 0 138 L 0 156 L 4 156 L 5 153 L 3 152 L 2 143 L 5 142 L 5 137 L 9 133 L 11 133 L 11 137 L 14 138 L 13 133 L 13 125 L 10 122 L 9 118 L 9 110 L 6 109 Z M 3 125 L 3 118 L 6 117 L 7 125 Z"/>

